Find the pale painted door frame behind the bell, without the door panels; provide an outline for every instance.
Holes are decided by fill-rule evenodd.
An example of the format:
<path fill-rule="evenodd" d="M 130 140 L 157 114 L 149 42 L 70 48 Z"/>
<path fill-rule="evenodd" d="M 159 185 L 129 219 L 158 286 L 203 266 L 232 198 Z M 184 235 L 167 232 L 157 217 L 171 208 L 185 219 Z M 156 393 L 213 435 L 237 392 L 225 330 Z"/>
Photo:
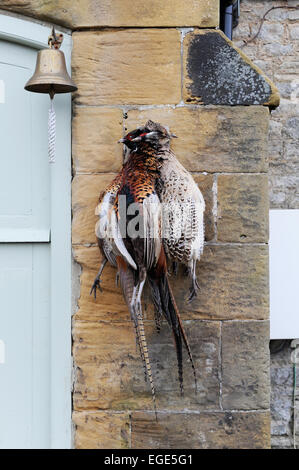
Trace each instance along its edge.
<path fill-rule="evenodd" d="M 47 47 L 51 26 L 30 18 L 9 16 L 0 10 L 0 39 L 30 46 Z M 57 32 L 60 32 L 57 26 Z M 64 35 L 61 50 L 71 70 L 72 37 Z M 24 84 L 25 85 L 25 84 Z M 51 274 L 50 274 L 50 396 L 51 448 L 72 445 L 72 340 L 71 340 L 71 95 L 56 107 L 59 121 L 56 136 L 56 162 L 49 164 L 51 178 Z M 55 103 L 55 100 L 54 100 Z M 67 103 L 67 106 L 65 106 Z M 44 155 L 47 158 L 47 155 Z"/>

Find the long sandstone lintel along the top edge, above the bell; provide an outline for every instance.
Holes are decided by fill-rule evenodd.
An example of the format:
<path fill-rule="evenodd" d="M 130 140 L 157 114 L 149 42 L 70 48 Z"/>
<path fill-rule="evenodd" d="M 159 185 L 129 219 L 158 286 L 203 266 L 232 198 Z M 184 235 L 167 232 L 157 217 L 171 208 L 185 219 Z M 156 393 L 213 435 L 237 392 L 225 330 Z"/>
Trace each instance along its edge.
<path fill-rule="evenodd" d="M 2 0 L 1 8 L 69 28 L 92 26 L 217 27 L 217 0 Z"/>

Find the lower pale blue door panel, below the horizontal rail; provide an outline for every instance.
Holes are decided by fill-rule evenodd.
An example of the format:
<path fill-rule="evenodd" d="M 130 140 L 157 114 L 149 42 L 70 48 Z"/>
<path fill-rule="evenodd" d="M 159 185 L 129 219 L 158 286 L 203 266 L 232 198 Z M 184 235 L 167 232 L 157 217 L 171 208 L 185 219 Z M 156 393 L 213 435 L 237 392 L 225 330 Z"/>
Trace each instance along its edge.
<path fill-rule="evenodd" d="M 48 244 L 0 244 L 0 298 L 0 448 L 48 447 Z"/>

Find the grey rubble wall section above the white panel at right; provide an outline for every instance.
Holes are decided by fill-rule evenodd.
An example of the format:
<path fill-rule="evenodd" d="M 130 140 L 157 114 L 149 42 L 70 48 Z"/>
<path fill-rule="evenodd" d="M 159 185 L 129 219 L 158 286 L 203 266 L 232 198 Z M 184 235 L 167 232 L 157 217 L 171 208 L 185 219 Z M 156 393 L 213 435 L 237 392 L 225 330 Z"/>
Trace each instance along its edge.
<path fill-rule="evenodd" d="M 298 1 L 279 5 L 298 6 Z M 280 106 L 272 111 L 269 134 L 270 207 L 299 208 L 299 11 L 269 12 L 259 36 L 246 45 L 259 28 L 271 0 L 243 0 L 239 26 L 233 41 L 273 80 L 281 94 Z"/>

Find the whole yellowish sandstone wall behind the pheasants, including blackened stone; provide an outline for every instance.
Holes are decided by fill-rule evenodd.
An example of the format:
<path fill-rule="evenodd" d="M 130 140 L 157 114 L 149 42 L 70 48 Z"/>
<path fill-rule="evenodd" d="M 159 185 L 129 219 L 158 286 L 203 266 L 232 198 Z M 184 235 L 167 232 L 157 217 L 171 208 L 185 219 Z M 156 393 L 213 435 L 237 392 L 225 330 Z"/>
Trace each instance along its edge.
<path fill-rule="evenodd" d="M 77 448 L 270 445 L 267 105 L 279 98 L 261 70 L 215 31 L 218 4 L 2 1 L 74 29 L 73 253 L 82 268 L 73 321 Z M 122 162 L 116 141 L 149 118 L 179 136 L 173 150 L 207 203 L 201 288 L 192 304 L 185 301 L 188 281 L 171 279 L 197 394 L 185 356 L 180 396 L 170 331 L 163 325 L 155 332 L 147 302 L 157 422 L 115 270 L 105 269 L 96 301 L 89 295 L 100 263 L 94 208 Z"/>

